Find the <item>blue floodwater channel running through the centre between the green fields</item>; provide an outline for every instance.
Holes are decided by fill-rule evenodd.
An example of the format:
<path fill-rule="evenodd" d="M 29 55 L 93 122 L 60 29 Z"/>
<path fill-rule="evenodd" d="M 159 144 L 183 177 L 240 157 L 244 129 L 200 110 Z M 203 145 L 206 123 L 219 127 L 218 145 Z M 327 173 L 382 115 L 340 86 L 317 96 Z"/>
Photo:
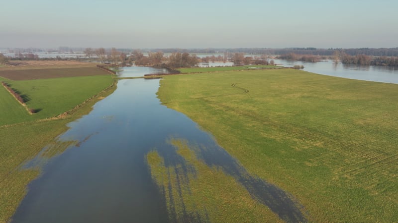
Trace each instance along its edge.
<path fill-rule="evenodd" d="M 128 69 L 133 68 L 123 72 Z M 136 76 L 148 71 L 134 69 Z M 71 146 L 51 159 L 40 155 L 33 159 L 34 164 L 45 160 L 42 174 L 28 185 L 13 222 L 170 221 L 146 155 L 156 150 L 169 165 L 183 165 L 184 159 L 168 143 L 171 138 L 201 145 L 205 149 L 195 153 L 205 164 L 233 176 L 281 219 L 306 222 L 302 206 L 289 193 L 250 175 L 194 121 L 161 105 L 158 88 L 157 79 L 119 80 L 117 89 L 93 111 L 69 123 L 70 129 L 57 140 Z"/>

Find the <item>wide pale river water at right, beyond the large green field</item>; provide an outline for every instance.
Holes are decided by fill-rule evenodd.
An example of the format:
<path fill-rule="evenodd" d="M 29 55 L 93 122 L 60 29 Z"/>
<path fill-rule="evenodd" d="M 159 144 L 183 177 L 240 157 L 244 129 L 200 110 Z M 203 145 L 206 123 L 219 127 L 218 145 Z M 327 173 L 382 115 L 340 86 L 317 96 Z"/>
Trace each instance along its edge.
<path fill-rule="evenodd" d="M 292 67 L 303 65 L 305 71 L 335 77 L 398 84 L 398 68 L 388 66 L 360 66 L 353 64 L 334 63 L 333 60 L 320 62 L 302 62 L 275 59 L 275 63 Z"/>

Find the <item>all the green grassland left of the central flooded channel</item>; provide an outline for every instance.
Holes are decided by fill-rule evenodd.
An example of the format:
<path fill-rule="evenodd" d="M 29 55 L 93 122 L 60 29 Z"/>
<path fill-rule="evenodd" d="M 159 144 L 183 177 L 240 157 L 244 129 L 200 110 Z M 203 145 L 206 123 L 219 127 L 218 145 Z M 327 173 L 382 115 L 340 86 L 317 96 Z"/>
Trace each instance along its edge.
<path fill-rule="evenodd" d="M 98 68 L 94 69 L 97 72 Z M 30 72 L 26 68 L 23 70 L 26 75 Z M 52 73 L 54 77 L 57 76 L 56 69 L 43 71 L 46 72 L 43 75 Z M 115 89 L 115 86 L 108 88 L 114 81 L 106 72 L 98 73 L 97 76 L 84 76 L 86 71 L 84 69 L 83 73 L 75 73 L 75 77 L 66 78 L 11 81 L 0 77 L 0 81 L 7 82 L 27 96 L 26 105 L 29 108 L 39 110 L 29 114 L 1 86 L 0 222 L 6 222 L 11 217 L 26 194 L 26 185 L 39 174 L 38 169 L 20 170 L 18 167 L 66 131 L 68 122 L 88 113 L 97 101 Z M 103 91 L 106 88 L 108 89 Z M 79 109 L 75 108 L 77 105 L 80 105 Z M 58 116 L 66 111 L 69 112 Z M 43 156 L 54 155 L 70 143 L 73 142 L 68 142 L 64 148 L 51 148 Z"/>

